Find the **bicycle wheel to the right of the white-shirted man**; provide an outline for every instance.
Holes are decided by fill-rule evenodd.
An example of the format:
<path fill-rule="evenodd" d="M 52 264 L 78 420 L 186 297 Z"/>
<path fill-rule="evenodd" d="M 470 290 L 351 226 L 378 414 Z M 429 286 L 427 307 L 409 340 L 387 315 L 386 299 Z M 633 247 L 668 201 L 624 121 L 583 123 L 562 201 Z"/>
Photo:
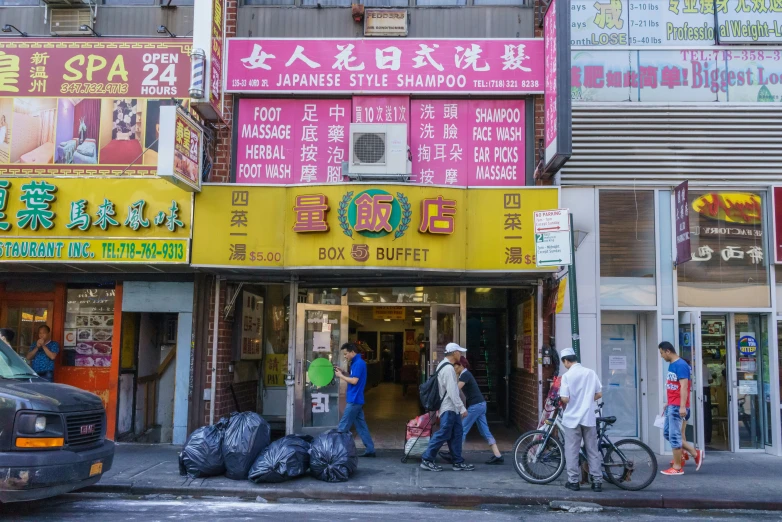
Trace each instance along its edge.
<path fill-rule="evenodd" d="M 644 489 L 657 477 L 657 458 L 637 440 L 620 440 L 609 447 L 604 462 L 605 475 L 612 484 L 628 491 Z"/>

